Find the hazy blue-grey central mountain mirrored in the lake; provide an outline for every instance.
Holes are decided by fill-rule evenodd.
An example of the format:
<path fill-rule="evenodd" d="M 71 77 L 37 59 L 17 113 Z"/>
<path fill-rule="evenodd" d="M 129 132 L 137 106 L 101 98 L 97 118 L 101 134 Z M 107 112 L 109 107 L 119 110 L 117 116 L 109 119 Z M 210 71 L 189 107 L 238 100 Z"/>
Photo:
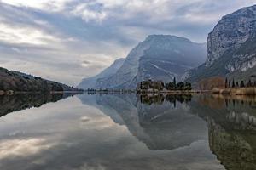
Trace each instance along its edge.
<path fill-rule="evenodd" d="M 207 139 L 207 125 L 183 103 L 142 104 L 134 94 L 79 96 L 129 131 L 151 150 L 172 150 Z M 91 100 L 95 99 L 95 103 Z"/>

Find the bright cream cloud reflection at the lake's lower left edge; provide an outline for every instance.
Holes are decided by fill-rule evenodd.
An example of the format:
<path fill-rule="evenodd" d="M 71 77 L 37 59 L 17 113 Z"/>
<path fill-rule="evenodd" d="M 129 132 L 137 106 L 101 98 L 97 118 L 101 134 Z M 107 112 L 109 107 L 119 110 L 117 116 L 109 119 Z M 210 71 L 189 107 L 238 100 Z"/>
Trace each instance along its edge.
<path fill-rule="evenodd" d="M 10 156 L 31 156 L 41 150 L 47 150 L 54 144 L 47 144 L 45 139 L 8 139 L 0 143 L 0 159 Z"/>

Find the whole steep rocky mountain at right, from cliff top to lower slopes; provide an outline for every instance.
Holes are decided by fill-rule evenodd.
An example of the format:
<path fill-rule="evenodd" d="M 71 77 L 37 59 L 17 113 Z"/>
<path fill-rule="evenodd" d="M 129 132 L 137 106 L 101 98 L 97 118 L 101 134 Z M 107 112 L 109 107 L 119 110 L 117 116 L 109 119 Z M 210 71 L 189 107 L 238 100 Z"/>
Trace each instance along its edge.
<path fill-rule="evenodd" d="M 183 78 L 198 82 L 222 76 L 247 80 L 256 77 L 256 5 L 225 15 L 207 38 L 207 60 Z"/>

